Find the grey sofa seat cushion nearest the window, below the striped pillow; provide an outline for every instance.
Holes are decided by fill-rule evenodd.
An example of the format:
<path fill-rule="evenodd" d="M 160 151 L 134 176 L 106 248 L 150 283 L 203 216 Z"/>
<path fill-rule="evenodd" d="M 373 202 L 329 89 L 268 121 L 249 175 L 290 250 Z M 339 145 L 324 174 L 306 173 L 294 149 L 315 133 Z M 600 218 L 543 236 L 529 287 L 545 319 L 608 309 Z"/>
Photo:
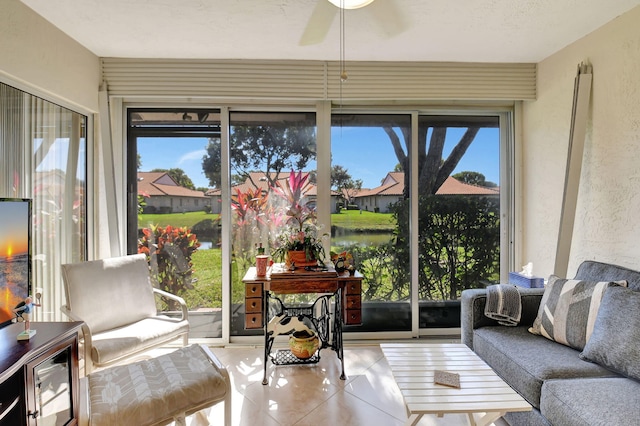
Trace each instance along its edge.
<path fill-rule="evenodd" d="M 473 349 L 532 406 L 540 407 L 545 380 L 574 377 L 619 377 L 614 372 L 580 359 L 579 352 L 527 327 L 482 327 L 473 332 Z"/>

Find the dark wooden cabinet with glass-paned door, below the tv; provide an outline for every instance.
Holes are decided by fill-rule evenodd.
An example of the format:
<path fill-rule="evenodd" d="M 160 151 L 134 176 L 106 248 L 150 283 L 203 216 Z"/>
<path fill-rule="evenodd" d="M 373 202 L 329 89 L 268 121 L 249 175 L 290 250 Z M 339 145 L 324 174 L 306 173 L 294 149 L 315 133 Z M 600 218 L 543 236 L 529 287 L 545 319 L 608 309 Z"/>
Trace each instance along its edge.
<path fill-rule="evenodd" d="M 78 422 L 78 334 L 81 322 L 31 322 L 0 330 L 0 425 Z"/>

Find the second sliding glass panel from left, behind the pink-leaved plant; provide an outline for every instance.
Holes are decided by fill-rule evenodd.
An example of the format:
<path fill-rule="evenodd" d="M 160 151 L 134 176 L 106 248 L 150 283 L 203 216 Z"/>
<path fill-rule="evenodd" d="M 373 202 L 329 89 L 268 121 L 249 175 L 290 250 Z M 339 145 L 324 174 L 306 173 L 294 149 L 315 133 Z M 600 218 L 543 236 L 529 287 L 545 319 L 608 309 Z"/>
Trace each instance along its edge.
<path fill-rule="evenodd" d="M 316 115 L 313 112 L 232 111 L 229 114 L 231 191 L 231 335 L 262 334 L 245 330 L 242 282 L 258 251 L 273 252 L 274 239 L 286 223 L 277 212 L 283 199 L 276 188 L 291 172 L 316 181 Z M 275 259 L 276 261 L 279 259 Z"/>

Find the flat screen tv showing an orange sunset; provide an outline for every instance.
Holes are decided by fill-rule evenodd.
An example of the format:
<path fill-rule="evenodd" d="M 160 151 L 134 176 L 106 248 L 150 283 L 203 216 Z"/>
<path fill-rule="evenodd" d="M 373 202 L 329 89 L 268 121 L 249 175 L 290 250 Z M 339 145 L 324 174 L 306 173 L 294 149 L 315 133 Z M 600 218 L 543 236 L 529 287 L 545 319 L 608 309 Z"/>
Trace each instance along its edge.
<path fill-rule="evenodd" d="M 0 327 L 31 291 L 31 200 L 0 198 Z"/>

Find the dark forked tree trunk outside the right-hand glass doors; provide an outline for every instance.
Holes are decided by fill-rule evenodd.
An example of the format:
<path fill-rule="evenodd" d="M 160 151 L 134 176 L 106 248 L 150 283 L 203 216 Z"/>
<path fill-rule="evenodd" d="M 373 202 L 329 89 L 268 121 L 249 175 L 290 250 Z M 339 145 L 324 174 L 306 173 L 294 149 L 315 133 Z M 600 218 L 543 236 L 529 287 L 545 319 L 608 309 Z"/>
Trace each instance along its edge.
<path fill-rule="evenodd" d="M 427 134 L 429 133 L 429 130 L 431 130 L 431 137 L 427 144 Z M 420 132 L 418 133 L 418 152 L 416 153 L 418 156 L 418 188 L 420 194 L 426 195 L 436 193 L 438 188 L 442 186 L 444 181 L 456 168 L 465 152 L 467 152 L 467 149 L 475 139 L 479 130 L 479 126 L 469 126 L 456 146 L 451 150 L 449 157 L 444 159 L 442 157 L 442 153 L 444 151 L 447 128 L 423 127 L 420 129 Z M 392 126 L 385 126 L 384 131 L 389 136 L 391 144 L 393 145 L 393 150 L 396 153 L 396 157 L 398 157 L 402 170 L 404 170 L 404 196 L 405 198 L 408 198 L 411 186 L 411 179 L 409 176 L 410 157 L 405 152 L 405 147 L 408 146 L 407 142 L 411 140 L 411 129 L 404 127 L 401 129 L 404 141 L 400 140 L 400 136 Z"/>

